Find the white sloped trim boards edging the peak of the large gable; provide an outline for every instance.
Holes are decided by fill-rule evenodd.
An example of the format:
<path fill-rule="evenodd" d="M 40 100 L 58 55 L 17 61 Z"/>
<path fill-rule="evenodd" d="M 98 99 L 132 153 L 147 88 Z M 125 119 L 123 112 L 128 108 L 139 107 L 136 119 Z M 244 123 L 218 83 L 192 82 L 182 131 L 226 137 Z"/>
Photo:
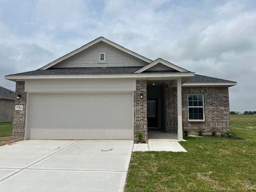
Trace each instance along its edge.
<path fill-rule="evenodd" d="M 118 50 L 121 50 L 121 51 L 123 51 L 123 52 L 125 52 L 125 53 L 128 53 L 128 54 L 132 55 L 133 57 L 136 57 L 136 58 L 141 59 L 141 60 L 143 60 L 143 61 L 146 61 L 146 62 L 148 62 L 148 63 L 152 62 L 152 60 L 150 60 L 150 59 L 148 59 L 148 58 L 146 58 L 146 57 L 143 57 L 142 55 L 140 55 L 140 54 L 138 54 L 138 53 L 135 53 L 135 52 L 133 52 L 133 51 L 131 51 L 131 50 L 128 50 L 128 49 L 126 49 L 125 47 L 123 47 L 123 46 L 121 46 L 121 45 L 118 45 L 118 44 L 116 44 L 116 43 L 114 43 L 114 42 L 111 42 L 110 40 L 108 40 L 108 39 L 106 39 L 106 38 L 104 38 L 104 37 L 99 37 L 99 38 L 97 38 L 97 39 L 94 39 L 94 40 L 91 41 L 90 43 L 87 43 L 87 44 L 85 44 L 85 45 L 79 47 L 78 49 L 76 49 L 76 50 L 74 50 L 74 51 L 71 51 L 70 53 L 68 53 L 68 54 L 66 54 L 66 55 L 63 55 L 63 56 L 60 57 L 59 59 L 56 59 L 56 60 L 50 62 L 49 64 L 45 65 L 44 67 L 41 67 L 40 69 L 43 69 L 43 70 L 44 70 L 44 69 L 48 69 L 48 68 L 50 68 L 50 67 L 56 65 L 57 63 L 59 63 L 59 62 L 65 60 L 65 59 L 68 59 L 68 58 L 70 58 L 71 56 L 73 56 L 73 55 L 75 55 L 75 54 L 77 54 L 77 53 L 79 53 L 79 52 L 81 52 L 81 51 L 84 51 L 85 49 L 87 49 L 87 48 L 91 47 L 92 45 L 94 45 L 94 44 L 96 44 L 96 43 L 99 43 L 99 42 L 105 42 L 105 43 L 107 43 L 107 44 L 109 44 L 109 45 L 111 45 L 111 46 L 114 46 L 114 47 L 115 47 L 116 49 L 118 49 Z"/>

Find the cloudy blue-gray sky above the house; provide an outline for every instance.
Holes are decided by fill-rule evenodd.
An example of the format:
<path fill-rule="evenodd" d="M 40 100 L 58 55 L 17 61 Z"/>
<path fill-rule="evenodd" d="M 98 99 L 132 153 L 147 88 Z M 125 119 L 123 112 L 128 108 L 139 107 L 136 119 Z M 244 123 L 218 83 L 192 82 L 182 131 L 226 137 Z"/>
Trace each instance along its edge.
<path fill-rule="evenodd" d="M 61 2 L 61 3 L 60 3 Z M 38 69 L 103 36 L 155 60 L 237 85 L 230 110 L 256 110 L 256 1 L 0 0 L 4 75 Z"/>

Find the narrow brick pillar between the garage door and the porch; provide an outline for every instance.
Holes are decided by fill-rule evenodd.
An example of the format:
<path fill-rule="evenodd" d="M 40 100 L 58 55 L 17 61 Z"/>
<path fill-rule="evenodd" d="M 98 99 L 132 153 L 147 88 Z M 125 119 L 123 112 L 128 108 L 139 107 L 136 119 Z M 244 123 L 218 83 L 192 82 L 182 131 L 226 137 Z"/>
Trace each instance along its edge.
<path fill-rule="evenodd" d="M 140 94 L 143 98 L 140 98 Z M 137 138 L 137 132 L 143 133 L 143 138 L 148 138 L 148 120 L 147 120 L 147 81 L 136 80 L 136 91 L 134 91 L 134 138 Z"/>

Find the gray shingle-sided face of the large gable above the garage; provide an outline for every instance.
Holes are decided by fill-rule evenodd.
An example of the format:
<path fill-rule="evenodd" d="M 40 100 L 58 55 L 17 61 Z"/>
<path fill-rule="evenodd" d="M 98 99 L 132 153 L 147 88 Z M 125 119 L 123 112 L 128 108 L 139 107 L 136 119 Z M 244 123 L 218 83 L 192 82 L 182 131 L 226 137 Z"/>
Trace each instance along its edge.
<path fill-rule="evenodd" d="M 105 61 L 100 61 L 100 53 L 105 53 Z M 98 42 L 51 68 L 81 68 L 81 67 L 137 67 L 148 63 L 128 53 L 116 49 L 105 42 Z"/>

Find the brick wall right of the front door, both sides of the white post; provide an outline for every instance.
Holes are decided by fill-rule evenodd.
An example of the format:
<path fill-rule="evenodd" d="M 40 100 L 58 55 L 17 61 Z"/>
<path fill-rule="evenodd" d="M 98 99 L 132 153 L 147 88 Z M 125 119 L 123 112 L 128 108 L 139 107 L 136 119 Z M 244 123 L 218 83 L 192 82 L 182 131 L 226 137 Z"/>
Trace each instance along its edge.
<path fill-rule="evenodd" d="M 204 122 L 188 121 L 187 95 L 190 93 L 204 94 Z M 177 133 L 177 88 L 167 87 L 166 96 L 166 132 Z M 183 130 L 197 132 L 203 129 L 210 133 L 230 130 L 228 87 L 182 87 L 182 127 Z"/>

